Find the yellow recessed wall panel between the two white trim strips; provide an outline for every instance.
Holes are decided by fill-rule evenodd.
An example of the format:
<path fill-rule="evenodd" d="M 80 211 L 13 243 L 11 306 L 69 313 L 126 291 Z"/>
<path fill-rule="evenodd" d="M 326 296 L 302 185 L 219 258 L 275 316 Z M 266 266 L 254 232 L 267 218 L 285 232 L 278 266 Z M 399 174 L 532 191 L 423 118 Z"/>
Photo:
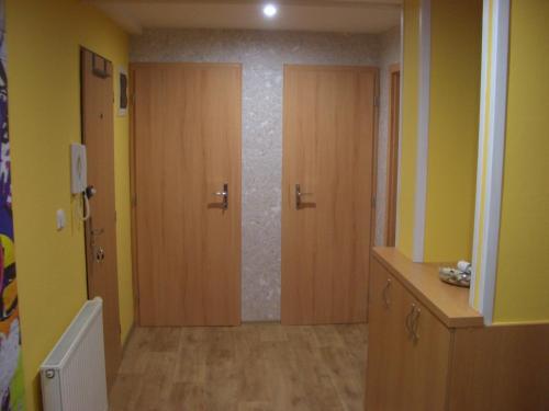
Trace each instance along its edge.
<path fill-rule="evenodd" d="M 471 260 L 482 0 L 432 1 L 425 261 Z"/>

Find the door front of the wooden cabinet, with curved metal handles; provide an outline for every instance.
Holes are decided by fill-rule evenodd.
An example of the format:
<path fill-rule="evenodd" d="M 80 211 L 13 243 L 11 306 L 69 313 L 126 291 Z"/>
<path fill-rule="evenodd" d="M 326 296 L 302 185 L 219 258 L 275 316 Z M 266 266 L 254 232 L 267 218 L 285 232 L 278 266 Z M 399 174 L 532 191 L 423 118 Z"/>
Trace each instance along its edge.
<path fill-rule="evenodd" d="M 371 273 L 367 410 L 442 410 L 449 330 L 379 261 Z"/>

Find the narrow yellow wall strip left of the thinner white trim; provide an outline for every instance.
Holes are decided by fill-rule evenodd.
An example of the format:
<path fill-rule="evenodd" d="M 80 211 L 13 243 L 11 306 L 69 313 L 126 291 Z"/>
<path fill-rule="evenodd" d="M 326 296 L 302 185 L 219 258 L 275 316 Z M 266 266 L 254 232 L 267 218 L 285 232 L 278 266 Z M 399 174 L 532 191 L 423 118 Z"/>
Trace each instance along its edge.
<path fill-rule="evenodd" d="M 414 203 L 417 158 L 417 102 L 419 76 L 419 0 L 405 0 L 402 77 L 402 137 L 396 248 L 414 252 Z"/>

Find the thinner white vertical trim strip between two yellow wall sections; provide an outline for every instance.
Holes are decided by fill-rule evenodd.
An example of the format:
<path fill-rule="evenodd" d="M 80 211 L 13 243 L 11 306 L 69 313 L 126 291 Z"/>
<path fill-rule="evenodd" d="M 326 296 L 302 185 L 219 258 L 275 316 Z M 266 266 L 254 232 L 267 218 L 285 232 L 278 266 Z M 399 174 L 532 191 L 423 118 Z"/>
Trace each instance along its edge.
<path fill-rule="evenodd" d="M 414 262 L 425 259 L 425 214 L 430 112 L 430 0 L 419 9 L 419 96 L 417 124 L 416 193 L 414 204 Z"/>

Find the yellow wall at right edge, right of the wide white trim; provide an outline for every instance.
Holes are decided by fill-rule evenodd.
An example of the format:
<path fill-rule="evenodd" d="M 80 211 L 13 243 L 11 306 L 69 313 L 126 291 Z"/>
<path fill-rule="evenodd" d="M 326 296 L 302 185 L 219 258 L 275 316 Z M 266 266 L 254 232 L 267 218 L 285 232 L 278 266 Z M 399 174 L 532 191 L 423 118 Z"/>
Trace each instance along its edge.
<path fill-rule="evenodd" d="M 549 2 L 511 9 L 494 322 L 549 322 Z"/>

